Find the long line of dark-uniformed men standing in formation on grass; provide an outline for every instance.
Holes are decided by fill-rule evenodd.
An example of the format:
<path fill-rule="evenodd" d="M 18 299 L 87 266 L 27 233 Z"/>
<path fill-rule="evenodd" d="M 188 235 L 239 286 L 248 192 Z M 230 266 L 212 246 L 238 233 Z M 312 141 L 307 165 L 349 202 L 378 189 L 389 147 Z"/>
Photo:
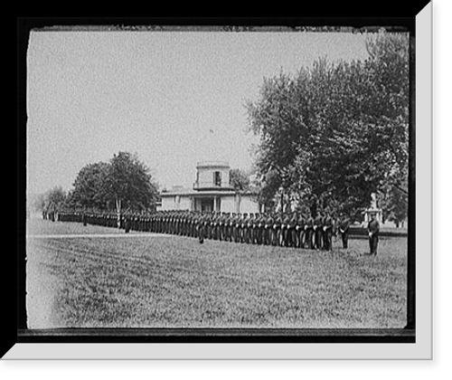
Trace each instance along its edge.
<path fill-rule="evenodd" d="M 158 211 L 155 213 L 63 211 L 42 215 L 60 222 L 117 227 L 130 231 L 169 233 L 224 242 L 275 245 L 311 250 L 332 250 L 333 236 L 341 234 L 343 247 L 348 247 L 350 220 L 344 214 L 334 217 L 327 210 L 315 217 L 304 213 L 236 214 L 196 211 Z M 373 251 L 373 250 L 372 250 Z"/>

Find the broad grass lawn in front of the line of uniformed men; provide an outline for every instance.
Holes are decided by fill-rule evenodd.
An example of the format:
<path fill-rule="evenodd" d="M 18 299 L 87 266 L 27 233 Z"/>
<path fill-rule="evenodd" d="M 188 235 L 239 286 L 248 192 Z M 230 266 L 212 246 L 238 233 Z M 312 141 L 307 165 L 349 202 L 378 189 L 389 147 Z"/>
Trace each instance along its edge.
<path fill-rule="evenodd" d="M 80 223 L 31 220 L 27 227 L 30 328 L 406 324 L 406 237 L 381 238 L 370 257 L 363 239 L 348 250 L 338 239 L 333 252 L 315 252 Z M 74 237 L 80 233 L 89 237 Z"/>

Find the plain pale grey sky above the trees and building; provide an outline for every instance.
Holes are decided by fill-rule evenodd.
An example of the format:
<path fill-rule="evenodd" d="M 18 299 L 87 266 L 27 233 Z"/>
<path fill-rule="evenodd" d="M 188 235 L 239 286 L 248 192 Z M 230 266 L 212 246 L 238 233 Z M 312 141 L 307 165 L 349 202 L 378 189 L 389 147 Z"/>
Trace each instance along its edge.
<path fill-rule="evenodd" d="M 196 162 L 248 170 L 244 104 L 264 77 L 318 57 L 367 57 L 365 35 L 296 32 L 33 32 L 27 55 L 27 192 L 70 190 L 80 169 L 126 150 L 162 187 Z"/>

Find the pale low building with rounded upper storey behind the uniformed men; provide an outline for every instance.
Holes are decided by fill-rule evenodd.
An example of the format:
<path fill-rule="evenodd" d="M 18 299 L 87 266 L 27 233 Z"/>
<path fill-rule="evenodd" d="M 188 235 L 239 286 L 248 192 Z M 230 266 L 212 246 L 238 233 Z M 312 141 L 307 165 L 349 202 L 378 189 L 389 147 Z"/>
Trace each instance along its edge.
<path fill-rule="evenodd" d="M 230 170 L 227 162 L 199 162 L 193 189 L 173 187 L 171 191 L 162 192 L 162 205 L 159 209 L 259 213 L 260 204 L 250 192 L 239 192 L 231 187 Z"/>

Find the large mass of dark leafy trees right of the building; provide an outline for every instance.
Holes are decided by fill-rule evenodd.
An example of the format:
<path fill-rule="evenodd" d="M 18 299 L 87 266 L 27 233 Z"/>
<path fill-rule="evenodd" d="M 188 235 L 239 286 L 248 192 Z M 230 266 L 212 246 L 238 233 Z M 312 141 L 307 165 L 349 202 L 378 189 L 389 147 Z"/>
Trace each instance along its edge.
<path fill-rule="evenodd" d="M 296 75 L 264 78 L 246 107 L 259 200 L 287 198 L 360 219 L 378 193 L 386 218 L 407 216 L 409 37 L 379 33 L 365 61 L 324 58 Z"/>

